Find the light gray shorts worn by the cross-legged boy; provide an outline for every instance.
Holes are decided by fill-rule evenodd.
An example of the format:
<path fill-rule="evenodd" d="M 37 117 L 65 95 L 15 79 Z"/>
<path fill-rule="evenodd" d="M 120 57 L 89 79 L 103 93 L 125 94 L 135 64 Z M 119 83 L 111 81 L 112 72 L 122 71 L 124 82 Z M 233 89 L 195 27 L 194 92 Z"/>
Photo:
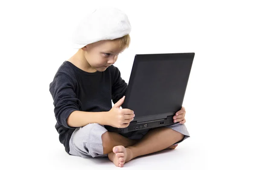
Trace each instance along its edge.
<path fill-rule="evenodd" d="M 174 124 L 166 127 L 182 133 L 185 136 L 183 140 L 190 137 L 189 132 L 184 124 Z M 148 132 L 148 130 L 150 129 L 137 130 L 134 132 L 123 133 L 122 135 L 129 139 L 141 139 Z M 108 130 L 106 130 L 103 125 L 96 123 L 76 128 L 70 138 L 69 153 L 74 156 L 81 156 L 82 158 L 101 158 L 108 156 L 108 154 L 103 154 L 102 146 L 102 134 L 106 131 Z"/>

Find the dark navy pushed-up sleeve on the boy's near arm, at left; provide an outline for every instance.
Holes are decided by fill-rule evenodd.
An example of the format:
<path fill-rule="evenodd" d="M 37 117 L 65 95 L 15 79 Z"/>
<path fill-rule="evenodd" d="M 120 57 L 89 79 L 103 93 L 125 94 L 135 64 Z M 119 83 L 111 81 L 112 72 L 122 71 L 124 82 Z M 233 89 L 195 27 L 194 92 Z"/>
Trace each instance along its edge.
<path fill-rule="evenodd" d="M 74 79 L 64 73 L 57 73 L 49 85 L 55 118 L 60 125 L 67 128 L 75 128 L 67 125 L 67 118 L 73 111 L 79 111 L 81 108 L 81 101 L 76 98 L 75 87 Z"/>

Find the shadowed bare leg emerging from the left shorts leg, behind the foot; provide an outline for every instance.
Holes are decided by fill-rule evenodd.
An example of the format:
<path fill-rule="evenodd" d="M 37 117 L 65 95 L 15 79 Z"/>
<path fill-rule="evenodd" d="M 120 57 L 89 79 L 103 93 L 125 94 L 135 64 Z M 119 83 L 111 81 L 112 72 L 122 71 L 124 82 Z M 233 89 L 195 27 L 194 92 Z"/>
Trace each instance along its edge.
<path fill-rule="evenodd" d="M 128 147 L 136 142 L 136 140 L 128 139 L 118 133 L 107 131 L 102 134 L 103 154 L 111 153 L 114 146 L 122 145 Z"/>

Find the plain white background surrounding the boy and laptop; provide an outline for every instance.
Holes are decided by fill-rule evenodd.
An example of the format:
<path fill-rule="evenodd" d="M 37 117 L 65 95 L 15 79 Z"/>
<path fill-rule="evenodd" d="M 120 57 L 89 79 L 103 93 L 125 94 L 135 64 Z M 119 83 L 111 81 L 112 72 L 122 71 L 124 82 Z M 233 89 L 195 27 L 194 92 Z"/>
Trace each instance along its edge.
<path fill-rule="evenodd" d="M 191 138 L 125 167 L 255 168 L 253 1 L 9 0 L 0 2 L 1 169 L 116 168 L 108 159 L 65 153 L 49 93 L 58 67 L 76 53 L 74 28 L 98 5 L 130 20 L 131 46 L 115 63 L 126 82 L 135 54 L 195 52 L 183 102 Z"/>

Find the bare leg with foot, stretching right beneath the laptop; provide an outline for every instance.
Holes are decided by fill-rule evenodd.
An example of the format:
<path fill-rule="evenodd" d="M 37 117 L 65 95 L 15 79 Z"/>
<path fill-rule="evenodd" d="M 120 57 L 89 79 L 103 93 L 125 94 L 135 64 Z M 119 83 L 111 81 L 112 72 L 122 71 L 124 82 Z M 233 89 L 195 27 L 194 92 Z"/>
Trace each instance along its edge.
<path fill-rule="evenodd" d="M 108 154 L 108 158 L 116 166 L 123 167 L 125 162 L 150 153 L 164 150 L 172 144 L 179 142 L 184 135 L 168 127 L 159 127 L 148 131 L 143 138 L 133 146 L 116 146 L 113 152 Z"/>

